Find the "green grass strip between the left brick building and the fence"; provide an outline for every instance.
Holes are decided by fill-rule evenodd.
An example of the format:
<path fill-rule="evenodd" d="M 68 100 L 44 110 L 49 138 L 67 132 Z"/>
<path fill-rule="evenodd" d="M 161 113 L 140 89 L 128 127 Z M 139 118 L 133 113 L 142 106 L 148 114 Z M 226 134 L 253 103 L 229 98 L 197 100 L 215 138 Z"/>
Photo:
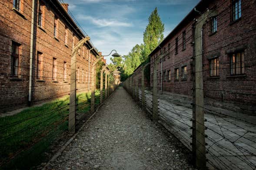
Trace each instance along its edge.
<path fill-rule="evenodd" d="M 100 102 L 95 93 L 95 104 Z M 90 94 L 76 96 L 77 115 L 90 111 Z M 0 163 L 14 157 L 7 167 L 29 169 L 43 160 L 43 153 L 68 129 L 69 96 L 0 118 Z M 5 169 L 5 168 L 4 168 Z M 11 168 L 12 169 L 12 168 Z"/>

